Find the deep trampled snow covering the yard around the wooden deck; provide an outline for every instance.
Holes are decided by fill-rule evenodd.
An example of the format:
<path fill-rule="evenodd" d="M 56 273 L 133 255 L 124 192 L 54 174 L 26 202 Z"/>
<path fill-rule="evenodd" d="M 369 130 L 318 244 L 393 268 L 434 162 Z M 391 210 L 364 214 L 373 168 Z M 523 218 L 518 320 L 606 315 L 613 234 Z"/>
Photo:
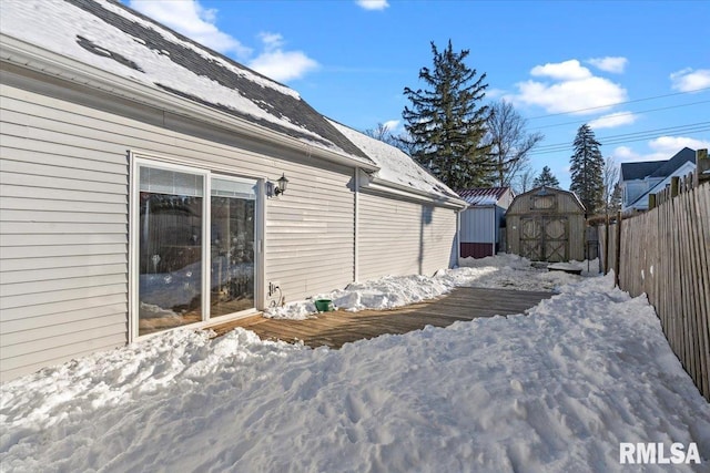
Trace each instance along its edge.
<path fill-rule="evenodd" d="M 0 387 L 0 470 L 638 471 L 619 464 L 620 442 L 677 442 L 703 463 L 648 471 L 708 471 L 710 404 L 653 309 L 612 277 L 497 257 L 399 279 L 344 297 L 390 307 L 417 285 L 463 284 L 559 295 L 341 350 L 183 329 L 45 369 Z"/>

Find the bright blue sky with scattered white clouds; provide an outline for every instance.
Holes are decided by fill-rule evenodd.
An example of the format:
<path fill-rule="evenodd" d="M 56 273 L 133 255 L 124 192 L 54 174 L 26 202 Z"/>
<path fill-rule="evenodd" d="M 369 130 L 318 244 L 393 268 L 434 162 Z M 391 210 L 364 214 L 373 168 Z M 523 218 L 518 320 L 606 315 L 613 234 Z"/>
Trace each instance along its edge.
<path fill-rule="evenodd" d="M 709 1 L 123 1 L 361 131 L 402 130 L 404 88 L 450 39 L 564 187 L 584 123 L 617 163 L 710 147 Z"/>

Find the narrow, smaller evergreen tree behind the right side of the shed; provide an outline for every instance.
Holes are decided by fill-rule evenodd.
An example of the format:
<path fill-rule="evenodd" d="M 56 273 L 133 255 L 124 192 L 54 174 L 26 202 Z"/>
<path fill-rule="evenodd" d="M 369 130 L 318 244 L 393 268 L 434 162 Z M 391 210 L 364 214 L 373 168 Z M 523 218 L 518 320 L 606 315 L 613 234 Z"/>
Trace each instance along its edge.
<path fill-rule="evenodd" d="M 599 151 L 599 143 L 595 132 L 585 124 L 577 131 L 575 137 L 575 153 L 570 157 L 571 186 L 569 189 L 577 194 L 587 209 L 587 215 L 594 215 L 604 209 L 604 157 Z"/>

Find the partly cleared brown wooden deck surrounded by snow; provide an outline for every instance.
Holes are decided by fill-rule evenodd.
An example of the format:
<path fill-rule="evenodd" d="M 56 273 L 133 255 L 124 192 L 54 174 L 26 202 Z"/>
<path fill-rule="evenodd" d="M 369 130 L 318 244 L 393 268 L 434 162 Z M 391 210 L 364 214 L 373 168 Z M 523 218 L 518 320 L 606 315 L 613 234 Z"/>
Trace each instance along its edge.
<path fill-rule="evenodd" d="M 440 298 L 399 309 L 357 312 L 336 310 L 322 312 L 317 318 L 306 320 L 277 320 L 256 315 L 209 329 L 221 336 L 242 327 L 266 340 L 302 340 L 313 348 L 341 348 L 347 342 L 384 333 L 406 333 L 427 325 L 446 327 L 457 320 L 521 313 L 552 296 L 552 292 L 458 287 Z"/>

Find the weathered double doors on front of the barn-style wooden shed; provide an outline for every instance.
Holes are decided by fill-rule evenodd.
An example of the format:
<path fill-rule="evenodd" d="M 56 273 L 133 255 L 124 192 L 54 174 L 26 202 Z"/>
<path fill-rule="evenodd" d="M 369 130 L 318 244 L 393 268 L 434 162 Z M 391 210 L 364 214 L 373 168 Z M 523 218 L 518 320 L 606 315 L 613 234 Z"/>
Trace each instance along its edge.
<path fill-rule="evenodd" d="M 567 217 L 523 218 L 520 255 L 534 261 L 566 261 L 569 238 Z"/>

